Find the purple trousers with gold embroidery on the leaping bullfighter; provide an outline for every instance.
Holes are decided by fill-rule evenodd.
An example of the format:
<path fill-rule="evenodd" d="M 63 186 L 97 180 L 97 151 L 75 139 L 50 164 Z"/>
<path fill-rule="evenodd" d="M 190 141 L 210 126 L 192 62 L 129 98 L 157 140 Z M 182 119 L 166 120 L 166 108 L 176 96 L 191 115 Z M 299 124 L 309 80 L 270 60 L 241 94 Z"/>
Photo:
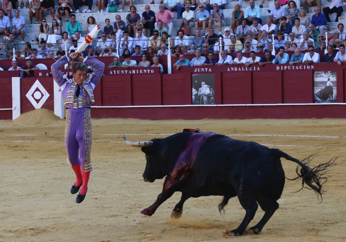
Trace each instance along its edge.
<path fill-rule="evenodd" d="M 81 163 L 85 171 L 91 166 L 92 127 L 90 108 L 70 108 L 66 110 L 65 146 L 70 166 Z"/>

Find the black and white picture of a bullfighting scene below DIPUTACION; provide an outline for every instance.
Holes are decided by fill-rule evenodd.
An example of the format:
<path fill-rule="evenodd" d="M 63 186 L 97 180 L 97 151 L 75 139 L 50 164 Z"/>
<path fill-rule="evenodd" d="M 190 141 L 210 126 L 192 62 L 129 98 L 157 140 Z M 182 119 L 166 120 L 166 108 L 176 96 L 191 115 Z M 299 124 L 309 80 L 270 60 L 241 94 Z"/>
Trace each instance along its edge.
<path fill-rule="evenodd" d="M 336 103 L 336 71 L 313 73 L 313 102 Z"/>

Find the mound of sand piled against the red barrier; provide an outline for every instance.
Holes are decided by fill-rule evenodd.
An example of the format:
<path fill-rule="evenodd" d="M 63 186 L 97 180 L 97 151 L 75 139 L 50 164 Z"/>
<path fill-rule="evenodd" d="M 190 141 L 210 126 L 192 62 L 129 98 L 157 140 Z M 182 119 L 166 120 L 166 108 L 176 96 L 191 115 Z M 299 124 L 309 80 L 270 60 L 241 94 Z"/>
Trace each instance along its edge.
<path fill-rule="evenodd" d="M 61 119 L 48 109 L 35 109 L 34 111 L 22 113 L 18 118 L 13 120 L 16 125 L 48 125 L 54 124 Z"/>

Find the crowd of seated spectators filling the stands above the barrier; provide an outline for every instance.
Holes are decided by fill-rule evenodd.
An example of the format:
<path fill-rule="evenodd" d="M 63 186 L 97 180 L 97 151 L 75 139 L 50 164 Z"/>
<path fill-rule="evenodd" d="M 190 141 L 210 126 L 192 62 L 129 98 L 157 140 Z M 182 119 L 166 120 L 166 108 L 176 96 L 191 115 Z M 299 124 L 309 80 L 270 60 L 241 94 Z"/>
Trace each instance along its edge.
<path fill-rule="evenodd" d="M 335 21 L 338 22 L 344 1 L 329 0 L 330 5 L 322 10 L 320 0 L 275 1 L 272 9 L 268 10 L 269 18 L 262 23 L 264 0 L 256 1 L 259 5 L 249 0 L 245 11 L 241 9 L 242 1 L 239 0 L 229 28 L 223 13 L 225 0 L 184 0 L 184 5 L 180 0 L 164 0 L 156 13 L 151 10 L 149 2 L 143 13 L 137 13 L 132 0 L 99 0 L 97 9 L 100 13 L 109 6 L 123 12 L 127 3 L 129 13 L 126 19 L 121 19 L 117 13 L 114 13 L 114 19 L 107 18 L 100 39 L 90 44 L 84 55 L 114 57 L 108 68 L 155 66 L 160 67 L 162 73 L 164 69 L 158 57 L 166 55 L 179 57 L 174 64 L 176 69 L 206 65 L 311 64 L 320 62 L 320 59 L 342 64 L 346 60 L 346 30 L 339 23 L 338 31 L 330 33 L 327 22 L 330 22 L 331 13 L 337 13 Z M 16 58 L 56 60 L 76 51 L 96 24 L 93 16 L 81 23 L 73 13 L 80 12 L 79 6 L 82 5 L 88 6 L 85 12 L 91 12 L 92 0 L 58 0 L 56 9 L 54 0 L 32 0 L 29 5 L 23 0 L 15 11 L 12 7 L 15 4 L 12 4 L 13 1 L 3 0 L 0 9 L 0 35 L 4 36 L 2 51 L 9 59 L 13 58 L 15 50 Z M 39 49 L 31 48 L 30 42 L 24 42 L 26 23 L 20 9 L 27 6 L 30 8 L 30 24 L 34 18 L 34 23 L 39 24 Z M 307 17 L 308 6 L 315 6 L 311 19 Z M 44 18 L 46 15 L 52 16 L 51 25 Z M 62 31 L 62 15 L 67 19 L 65 31 Z M 181 21 L 179 30 L 173 35 L 175 18 Z M 20 43 L 24 44 L 23 49 L 19 49 Z M 273 50 L 276 55 L 272 55 Z M 326 50 L 327 54 L 320 58 L 315 50 Z M 294 54 L 289 56 L 287 52 Z M 236 57 L 233 59 L 230 53 L 236 53 Z M 250 58 L 244 57 L 244 53 L 249 53 Z M 220 54 L 218 59 L 215 54 Z M 186 55 L 195 57 L 189 61 Z M 119 56 L 124 58 L 124 62 L 119 61 Z M 140 56 L 142 61 L 136 63 L 131 56 Z M 155 56 L 153 63 L 147 61 L 147 56 Z"/>

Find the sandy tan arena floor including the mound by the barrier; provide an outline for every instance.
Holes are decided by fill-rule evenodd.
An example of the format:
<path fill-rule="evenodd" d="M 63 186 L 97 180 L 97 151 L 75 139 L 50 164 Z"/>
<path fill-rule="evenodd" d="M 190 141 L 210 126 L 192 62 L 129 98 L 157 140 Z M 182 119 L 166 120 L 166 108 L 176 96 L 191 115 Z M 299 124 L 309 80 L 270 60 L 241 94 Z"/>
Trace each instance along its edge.
<path fill-rule="evenodd" d="M 66 162 L 64 120 L 51 111 L 35 110 L 15 121 L 0 120 L 0 241 L 345 241 L 345 119 L 310 120 L 136 120 L 93 119 L 92 164 L 83 203 L 70 194 L 75 182 Z M 300 183 L 286 180 L 280 208 L 259 235 L 227 238 L 245 210 L 231 198 L 225 214 L 221 197 L 190 198 L 183 216 L 170 214 L 180 193 L 147 217 L 139 212 L 162 190 L 162 180 L 144 183 L 144 153 L 122 142 L 163 138 L 184 128 L 228 134 L 256 141 L 313 164 L 339 157 L 325 184 L 323 202 Z M 295 163 L 282 159 L 286 177 L 295 177 Z M 263 216 L 260 208 L 250 226 Z"/>

